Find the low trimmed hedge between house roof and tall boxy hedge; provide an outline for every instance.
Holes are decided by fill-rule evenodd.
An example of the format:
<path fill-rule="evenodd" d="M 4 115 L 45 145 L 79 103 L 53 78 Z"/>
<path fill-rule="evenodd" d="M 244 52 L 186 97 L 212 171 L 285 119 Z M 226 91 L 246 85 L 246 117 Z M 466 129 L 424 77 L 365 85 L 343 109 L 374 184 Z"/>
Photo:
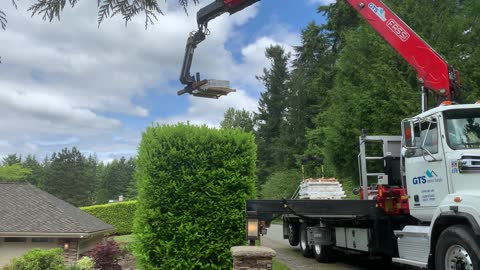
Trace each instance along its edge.
<path fill-rule="evenodd" d="M 81 207 L 83 211 L 103 220 L 115 228 L 115 234 L 131 234 L 136 201 L 117 202 Z"/>

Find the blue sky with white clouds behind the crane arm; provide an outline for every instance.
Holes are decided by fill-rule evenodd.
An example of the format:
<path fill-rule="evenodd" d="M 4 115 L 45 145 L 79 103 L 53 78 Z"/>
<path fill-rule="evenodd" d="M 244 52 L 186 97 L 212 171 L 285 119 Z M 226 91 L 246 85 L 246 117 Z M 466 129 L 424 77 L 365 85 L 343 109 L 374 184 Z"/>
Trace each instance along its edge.
<path fill-rule="evenodd" d="M 27 1 L 26 1 L 27 2 Z M 308 22 L 322 23 L 321 0 L 263 0 L 233 16 L 212 21 L 196 51 L 192 73 L 227 79 L 237 92 L 219 100 L 176 95 L 189 17 L 168 1 L 148 30 L 135 19 L 96 26 L 95 1 L 67 8 L 62 21 L 30 18 L 28 4 L 4 3 L 9 24 L 0 34 L 0 156 L 35 154 L 39 159 L 77 146 L 109 161 L 135 155 L 146 126 L 190 121 L 218 126 L 229 107 L 255 111 L 263 91 L 255 75 L 268 61 L 264 50 L 279 44 L 292 52 Z M 163 1 L 161 1 L 163 2 Z"/>

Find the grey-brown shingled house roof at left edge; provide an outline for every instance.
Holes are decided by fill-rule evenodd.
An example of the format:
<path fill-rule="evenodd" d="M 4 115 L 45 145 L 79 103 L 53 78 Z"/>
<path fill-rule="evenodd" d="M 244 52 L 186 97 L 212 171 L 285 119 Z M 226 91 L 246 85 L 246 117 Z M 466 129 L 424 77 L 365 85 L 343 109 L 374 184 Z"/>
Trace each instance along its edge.
<path fill-rule="evenodd" d="M 0 236 L 83 238 L 114 228 L 28 183 L 0 183 Z"/>

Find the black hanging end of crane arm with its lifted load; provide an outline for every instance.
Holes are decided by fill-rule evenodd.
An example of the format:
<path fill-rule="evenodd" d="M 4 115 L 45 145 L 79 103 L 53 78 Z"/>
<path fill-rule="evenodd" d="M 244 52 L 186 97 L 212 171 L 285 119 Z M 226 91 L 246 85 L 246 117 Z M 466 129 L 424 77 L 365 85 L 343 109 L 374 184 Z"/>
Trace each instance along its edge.
<path fill-rule="evenodd" d="M 183 58 L 182 70 L 180 72 L 180 82 L 185 87 L 178 91 L 178 95 L 189 93 L 197 97 L 215 98 L 235 92 L 230 88 L 228 81 L 205 80 L 200 78 L 200 73 L 195 76 L 190 74 L 193 54 L 198 44 L 205 40 L 209 34 L 208 22 L 224 13 L 234 14 L 259 0 L 215 0 L 215 2 L 201 8 L 197 12 L 198 31 L 192 32 L 185 47 L 185 56 Z"/>

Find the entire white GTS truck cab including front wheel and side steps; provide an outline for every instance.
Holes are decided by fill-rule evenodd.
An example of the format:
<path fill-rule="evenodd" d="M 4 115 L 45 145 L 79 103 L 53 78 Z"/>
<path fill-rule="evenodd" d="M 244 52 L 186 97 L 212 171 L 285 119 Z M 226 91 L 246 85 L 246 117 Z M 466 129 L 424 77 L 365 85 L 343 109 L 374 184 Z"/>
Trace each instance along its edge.
<path fill-rule="evenodd" d="M 399 248 L 394 261 L 477 269 L 480 104 L 439 106 L 404 120 L 402 133 L 403 180 L 418 224 L 394 232 Z"/>

